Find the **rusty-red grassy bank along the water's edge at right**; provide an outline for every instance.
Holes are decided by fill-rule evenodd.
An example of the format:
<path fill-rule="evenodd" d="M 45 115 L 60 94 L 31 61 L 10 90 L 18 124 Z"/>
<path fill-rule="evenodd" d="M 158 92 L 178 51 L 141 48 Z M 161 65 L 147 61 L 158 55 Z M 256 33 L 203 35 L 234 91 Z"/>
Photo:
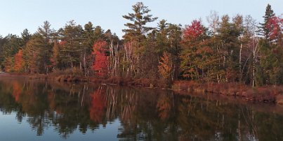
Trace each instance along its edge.
<path fill-rule="evenodd" d="M 212 93 L 225 96 L 237 96 L 246 101 L 283 104 L 283 86 L 249 87 L 239 83 L 206 83 L 176 81 L 172 89 L 188 93 Z"/>

